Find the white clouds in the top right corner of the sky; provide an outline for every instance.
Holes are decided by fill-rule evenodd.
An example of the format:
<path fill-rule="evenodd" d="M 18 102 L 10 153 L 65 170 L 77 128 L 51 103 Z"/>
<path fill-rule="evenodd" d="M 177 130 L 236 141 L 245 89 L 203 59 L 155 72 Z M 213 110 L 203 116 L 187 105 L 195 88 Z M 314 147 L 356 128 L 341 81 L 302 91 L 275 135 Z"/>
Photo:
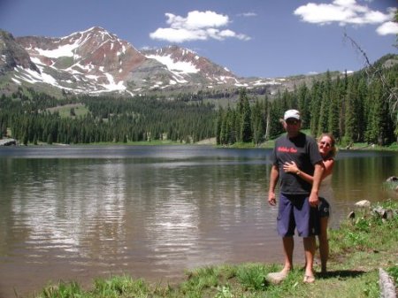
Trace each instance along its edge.
<path fill-rule="evenodd" d="M 390 23 L 394 23 L 391 20 L 394 19 L 395 11 L 396 9 L 391 7 L 387 9 L 386 13 L 372 11 L 367 5 L 357 4 L 356 0 L 334 0 L 332 4 L 309 3 L 302 5 L 294 11 L 294 14 L 305 22 L 320 25 L 333 22 L 337 22 L 341 26 L 383 24 L 377 32 L 393 34 L 389 30 L 394 27 Z"/>

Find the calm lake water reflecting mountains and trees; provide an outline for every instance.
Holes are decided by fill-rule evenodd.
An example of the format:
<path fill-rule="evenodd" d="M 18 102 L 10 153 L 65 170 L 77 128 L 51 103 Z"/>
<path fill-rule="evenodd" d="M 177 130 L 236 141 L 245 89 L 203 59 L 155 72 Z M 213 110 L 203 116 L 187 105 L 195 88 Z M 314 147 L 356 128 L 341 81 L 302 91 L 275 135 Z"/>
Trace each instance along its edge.
<path fill-rule="evenodd" d="M 266 203 L 270 149 L 206 146 L 0 148 L 0 297 L 49 280 L 127 273 L 175 280 L 209 264 L 282 261 Z M 333 226 L 382 187 L 398 154 L 341 151 Z M 300 241 L 301 242 L 301 241 Z M 296 245 L 295 261 L 302 260 Z"/>

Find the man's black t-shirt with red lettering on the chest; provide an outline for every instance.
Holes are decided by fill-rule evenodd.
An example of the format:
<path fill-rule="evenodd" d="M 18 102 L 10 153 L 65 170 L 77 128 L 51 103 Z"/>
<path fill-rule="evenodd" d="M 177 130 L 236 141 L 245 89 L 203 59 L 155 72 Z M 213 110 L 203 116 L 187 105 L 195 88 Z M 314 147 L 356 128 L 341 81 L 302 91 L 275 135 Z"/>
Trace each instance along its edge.
<path fill-rule="evenodd" d="M 317 141 L 306 134 L 288 138 L 287 134 L 275 141 L 273 164 L 279 168 L 280 192 L 286 195 L 309 195 L 311 184 L 302 180 L 295 173 L 285 172 L 283 164 L 294 161 L 302 172 L 313 176 L 314 165 L 322 161 Z"/>

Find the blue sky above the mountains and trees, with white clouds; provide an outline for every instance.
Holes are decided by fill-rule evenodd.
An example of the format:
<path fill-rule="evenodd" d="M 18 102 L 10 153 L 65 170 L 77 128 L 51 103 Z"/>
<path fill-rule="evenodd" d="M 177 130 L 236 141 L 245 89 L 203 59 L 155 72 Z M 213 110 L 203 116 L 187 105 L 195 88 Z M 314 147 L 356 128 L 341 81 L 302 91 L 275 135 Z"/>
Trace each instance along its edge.
<path fill-rule="evenodd" d="M 0 28 L 63 37 L 103 27 L 138 50 L 176 44 L 239 76 L 356 71 L 398 54 L 396 0 L 0 0 Z"/>

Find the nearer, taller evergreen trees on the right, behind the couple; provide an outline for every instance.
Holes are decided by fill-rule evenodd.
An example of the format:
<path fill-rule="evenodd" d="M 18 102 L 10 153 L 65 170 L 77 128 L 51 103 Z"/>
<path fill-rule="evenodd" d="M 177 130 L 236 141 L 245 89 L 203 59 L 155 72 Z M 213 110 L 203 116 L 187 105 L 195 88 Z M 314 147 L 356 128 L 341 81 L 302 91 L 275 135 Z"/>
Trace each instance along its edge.
<path fill-rule="evenodd" d="M 332 133 L 343 145 L 367 142 L 385 146 L 397 141 L 398 64 L 382 64 L 396 55 L 388 55 L 362 72 L 337 76 L 326 73 L 325 80 L 305 83 L 294 92 L 281 92 L 272 100 L 249 104 L 241 90 L 236 107 L 218 111 L 217 142 L 221 145 L 253 141 L 259 144 L 283 133 L 279 119 L 284 111 L 302 113 L 302 128 L 313 136 Z M 371 74 L 370 74 L 371 71 Z"/>

